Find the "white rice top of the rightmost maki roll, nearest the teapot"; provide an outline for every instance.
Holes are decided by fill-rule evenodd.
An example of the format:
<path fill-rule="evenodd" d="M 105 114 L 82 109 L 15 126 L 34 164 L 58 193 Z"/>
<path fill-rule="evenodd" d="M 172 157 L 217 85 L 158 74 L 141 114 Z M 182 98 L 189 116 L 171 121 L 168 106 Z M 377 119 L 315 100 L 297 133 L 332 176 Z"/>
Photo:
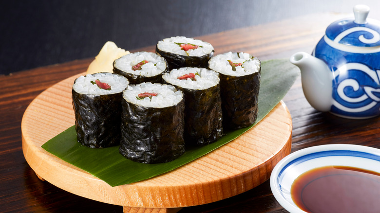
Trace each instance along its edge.
<path fill-rule="evenodd" d="M 260 71 L 261 62 L 257 57 L 253 57 L 248 53 L 223 53 L 212 57 L 209 60 L 209 68 L 211 70 L 220 72 L 225 75 L 231 76 L 244 76 Z M 242 66 L 236 66 L 236 71 L 232 70 L 232 66 L 229 65 L 228 60 L 238 64 L 242 63 Z"/>

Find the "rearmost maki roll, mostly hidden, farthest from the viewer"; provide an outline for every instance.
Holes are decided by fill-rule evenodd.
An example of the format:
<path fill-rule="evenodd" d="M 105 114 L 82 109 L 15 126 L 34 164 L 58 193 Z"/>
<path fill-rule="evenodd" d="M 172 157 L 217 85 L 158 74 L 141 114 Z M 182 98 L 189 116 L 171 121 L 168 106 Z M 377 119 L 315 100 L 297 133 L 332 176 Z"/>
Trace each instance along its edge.
<path fill-rule="evenodd" d="M 159 41 L 156 53 L 167 60 L 169 70 L 181 67 L 208 68 L 214 48 L 202 40 L 176 36 Z"/>

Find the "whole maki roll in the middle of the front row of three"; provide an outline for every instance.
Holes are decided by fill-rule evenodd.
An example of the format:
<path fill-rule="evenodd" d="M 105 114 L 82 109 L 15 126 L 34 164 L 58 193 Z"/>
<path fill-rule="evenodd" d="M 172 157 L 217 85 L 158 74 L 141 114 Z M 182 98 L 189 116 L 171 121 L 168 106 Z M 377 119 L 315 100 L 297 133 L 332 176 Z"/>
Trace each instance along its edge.
<path fill-rule="evenodd" d="M 180 68 L 162 76 L 185 93 L 185 142 L 206 145 L 223 134 L 218 73 L 205 68 Z"/>

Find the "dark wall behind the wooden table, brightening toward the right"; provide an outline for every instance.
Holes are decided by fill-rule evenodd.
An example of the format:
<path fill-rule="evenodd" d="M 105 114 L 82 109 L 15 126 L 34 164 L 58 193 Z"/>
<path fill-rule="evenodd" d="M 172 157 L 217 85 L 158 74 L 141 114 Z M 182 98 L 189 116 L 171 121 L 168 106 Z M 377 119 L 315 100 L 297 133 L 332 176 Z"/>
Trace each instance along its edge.
<path fill-rule="evenodd" d="M 0 0 L 0 74 L 95 57 L 107 41 L 133 50 L 359 3 L 380 12 L 378 0 Z"/>

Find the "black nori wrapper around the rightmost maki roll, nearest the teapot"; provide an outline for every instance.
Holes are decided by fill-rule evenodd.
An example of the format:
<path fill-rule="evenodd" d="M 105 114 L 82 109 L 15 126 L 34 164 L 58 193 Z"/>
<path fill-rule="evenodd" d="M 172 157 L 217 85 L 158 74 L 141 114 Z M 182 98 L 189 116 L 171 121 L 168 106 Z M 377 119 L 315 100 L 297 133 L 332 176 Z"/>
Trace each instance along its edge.
<path fill-rule="evenodd" d="M 224 127 L 237 129 L 255 123 L 258 112 L 260 70 L 244 76 L 219 73 L 219 77 Z"/>

